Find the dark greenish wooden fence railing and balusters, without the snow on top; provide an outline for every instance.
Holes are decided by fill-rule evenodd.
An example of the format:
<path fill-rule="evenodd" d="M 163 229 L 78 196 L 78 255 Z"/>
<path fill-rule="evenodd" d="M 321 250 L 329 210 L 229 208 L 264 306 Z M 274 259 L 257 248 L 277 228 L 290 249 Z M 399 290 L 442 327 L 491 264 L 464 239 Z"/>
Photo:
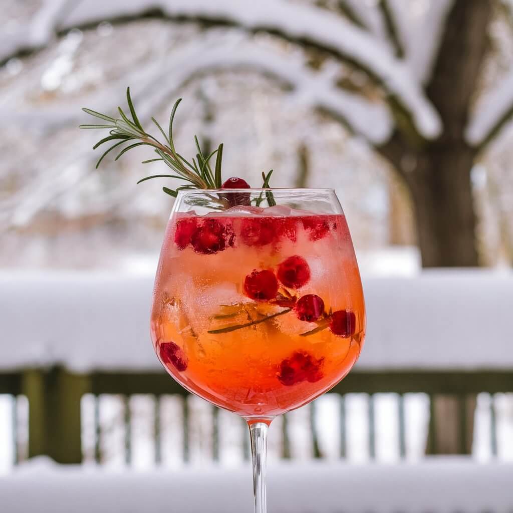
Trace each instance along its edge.
<path fill-rule="evenodd" d="M 459 452 L 467 452 L 469 446 L 466 440 L 467 408 L 471 402 L 468 398 L 479 392 L 495 394 L 513 391 L 513 372 L 509 371 L 353 371 L 331 392 L 340 395 L 340 456 L 345 456 L 345 422 L 347 412 L 344 398 L 348 393 L 367 393 L 368 400 L 368 447 L 372 458 L 376 455 L 376 415 L 374 412 L 374 394 L 394 392 L 398 396 L 398 447 L 400 456 L 405 456 L 405 440 L 407 428 L 404 415 L 403 394 L 409 392 L 424 392 L 430 398 L 430 404 L 440 394 L 457 398 L 459 404 Z M 0 393 L 13 396 L 25 396 L 29 405 L 28 453 L 29 456 L 48 455 L 61 463 L 80 463 L 83 455 L 81 400 L 85 394 L 93 394 L 95 398 L 95 431 L 98 433 L 100 418 L 100 403 L 97 400 L 102 394 L 116 394 L 125 398 L 125 441 L 127 459 L 130 453 L 130 408 L 129 398 L 133 394 L 150 394 L 155 398 L 155 411 L 153 416 L 155 435 L 155 460 L 160 456 L 159 422 L 160 398 L 168 394 L 176 394 L 184 398 L 182 401 L 183 418 L 183 459 L 188 459 L 188 432 L 189 413 L 188 393 L 164 372 L 128 373 L 128 372 L 93 372 L 89 374 L 70 373 L 63 368 L 50 370 L 28 369 L 16 373 L 0 374 Z M 490 402 L 491 429 L 489 443 L 491 453 L 497 452 L 497 427 L 494 402 Z M 317 428 L 315 424 L 315 402 L 310 406 L 310 440 L 314 457 L 320 457 Z M 472 407 L 472 406 L 470 406 Z M 218 413 L 212 415 L 212 458 L 219 457 L 219 429 L 217 425 Z M 282 423 L 282 457 L 290 456 L 288 422 Z M 430 429 L 437 431 L 436 416 L 430 415 Z M 16 431 L 16 426 L 14 426 Z M 440 452 L 436 446 L 437 438 L 428 440 L 428 452 Z M 100 458 L 99 435 L 96 437 L 96 458 Z M 246 453 L 247 456 L 247 453 Z"/>

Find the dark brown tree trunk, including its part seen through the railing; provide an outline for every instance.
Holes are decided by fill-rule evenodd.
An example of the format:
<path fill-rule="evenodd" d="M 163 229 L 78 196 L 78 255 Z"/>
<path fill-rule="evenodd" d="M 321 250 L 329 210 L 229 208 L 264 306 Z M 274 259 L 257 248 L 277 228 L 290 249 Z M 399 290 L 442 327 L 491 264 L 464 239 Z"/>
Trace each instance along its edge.
<path fill-rule="evenodd" d="M 455 0 L 447 16 L 426 86 L 444 127 L 439 139 L 421 147 L 410 142 L 408 133 L 396 132 L 379 149 L 411 191 L 423 267 L 479 265 L 470 181 L 476 150 L 466 144 L 464 132 L 487 51 L 493 7 L 489 0 Z M 475 398 L 469 398 L 469 404 L 475 404 Z M 466 416 L 465 443 L 458 441 L 461 415 L 455 400 L 435 397 L 431 412 L 428 452 L 468 453 L 473 409 Z"/>

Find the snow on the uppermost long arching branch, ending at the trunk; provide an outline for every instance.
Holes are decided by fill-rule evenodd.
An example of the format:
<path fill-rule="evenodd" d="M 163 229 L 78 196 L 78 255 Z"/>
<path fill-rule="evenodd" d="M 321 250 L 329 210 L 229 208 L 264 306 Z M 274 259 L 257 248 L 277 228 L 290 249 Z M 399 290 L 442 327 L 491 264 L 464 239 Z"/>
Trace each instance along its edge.
<path fill-rule="evenodd" d="M 88 0 L 71 10 L 59 29 L 86 26 L 105 19 L 143 14 L 146 0 Z M 432 139 L 441 132 L 438 113 L 425 97 L 422 88 L 411 76 L 407 66 L 394 57 L 388 45 L 343 17 L 307 5 L 284 0 L 155 0 L 172 19 L 191 19 L 231 24 L 248 30 L 267 30 L 292 41 L 308 42 L 356 64 L 384 86 L 388 94 L 411 114 L 418 132 Z"/>

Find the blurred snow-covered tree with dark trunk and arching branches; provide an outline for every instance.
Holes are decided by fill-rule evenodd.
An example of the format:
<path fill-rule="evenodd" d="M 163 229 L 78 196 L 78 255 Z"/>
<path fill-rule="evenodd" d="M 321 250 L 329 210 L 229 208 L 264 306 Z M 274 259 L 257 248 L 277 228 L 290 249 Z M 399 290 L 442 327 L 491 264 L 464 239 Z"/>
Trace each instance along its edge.
<path fill-rule="evenodd" d="M 513 74 L 479 95 L 497 6 L 488 0 L 159 0 L 150 7 L 146 0 L 63 0 L 42 4 L 32 24 L 4 36 L 0 48 L 5 60 L 45 45 L 56 32 L 143 15 L 267 32 L 291 42 L 301 52 L 284 54 L 251 41 L 191 45 L 181 62 L 170 63 L 171 85 L 226 67 L 278 77 L 392 164 L 411 194 L 425 267 L 473 266 L 479 262 L 470 172 L 513 111 Z M 317 65 L 308 66 L 312 60 Z M 343 66 L 361 72 L 365 86 L 340 80 Z M 369 88 L 376 92 L 371 98 Z"/>

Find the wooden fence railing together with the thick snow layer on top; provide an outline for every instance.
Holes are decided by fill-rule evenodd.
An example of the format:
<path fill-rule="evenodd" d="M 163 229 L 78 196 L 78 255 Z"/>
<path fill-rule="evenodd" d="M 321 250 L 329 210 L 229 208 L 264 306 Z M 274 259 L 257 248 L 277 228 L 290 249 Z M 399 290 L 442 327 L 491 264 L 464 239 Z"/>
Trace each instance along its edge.
<path fill-rule="evenodd" d="M 0 393 L 25 396 L 29 405 L 29 456 L 58 462 L 82 460 L 81 400 L 86 394 L 125 398 L 126 446 L 130 448 L 133 394 L 150 394 L 158 405 L 186 391 L 162 370 L 148 337 L 151 277 L 96 273 L 0 274 Z M 450 396 L 457 419 L 452 452 L 468 453 L 476 393 L 513 392 L 513 274 L 433 271 L 414 278 L 364 280 L 367 339 L 356 367 L 332 392 L 340 395 L 340 452 L 346 450 L 346 394 L 369 394 L 369 455 L 376 454 L 374 394 L 398 395 L 398 447 L 405 453 L 403 395 L 428 394 L 428 453 L 444 452 L 444 412 L 438 398 Z M 96 417 L 100 417 L 97 401 Z M 183 453 L 188 453 L 188 401 L 182 402 Z M 490 402 L 490 447 L 497 452 L 495 402 Z M 15 409 L 15 408 L 14 408 Z M 310 439 L 321 455 L 315 403 Z M 154 432 L 159 458 L 159 416 Z M 14 416 L 15 417 L 15 416 Z M 445 415 L 447 417 L 447 415 Z M 212 455 L 219 452 L 218 415 L 212 415 Z M 454 427 L 454 426 L 453 426 Z M 289 450 L 287 416 L 282 456 Z M 98 431 L 96 423 L 95 430 Z M 16 431 L 16 429 L 14 430 Z M 218 433 L 218 434 L 216 434 Z M 15 433 L 14 433 L 15 435 Z M 443 441 L 443 440 L 442 440 Z M 247 447 L 245 447 L 247 450 Z M 96 456 L 99 451 L 96 450 Z"/>

